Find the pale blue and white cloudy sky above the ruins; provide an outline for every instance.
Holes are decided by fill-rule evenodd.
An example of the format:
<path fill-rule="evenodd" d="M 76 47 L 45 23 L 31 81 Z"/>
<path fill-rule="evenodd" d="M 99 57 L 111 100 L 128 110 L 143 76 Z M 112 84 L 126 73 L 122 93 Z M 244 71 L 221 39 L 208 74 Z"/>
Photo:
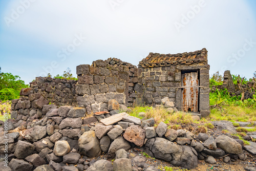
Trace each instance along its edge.
<path fill-rule="evenodd" d="M 26 83 L 97 59 L 206 48 L 210 74 L 256 71 L 254 0 L 0 0 L 0 67 Z"/>

